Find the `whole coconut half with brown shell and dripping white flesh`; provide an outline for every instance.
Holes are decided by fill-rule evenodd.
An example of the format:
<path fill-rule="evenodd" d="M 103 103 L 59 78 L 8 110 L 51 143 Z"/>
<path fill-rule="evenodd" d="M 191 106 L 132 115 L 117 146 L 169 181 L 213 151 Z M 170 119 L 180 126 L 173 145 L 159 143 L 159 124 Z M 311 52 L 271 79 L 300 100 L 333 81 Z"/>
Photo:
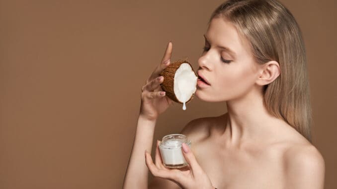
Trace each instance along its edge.
<path fill-rule="evenodd" d="M 178 60 L 166 67 L 161 75 L 164 76 L 161 87 L 166 95 L 174 102 L 183 104 L 182 109 L 186 110 L 186 104 L 194 97 L 198 80 L 191 64 Z"/>

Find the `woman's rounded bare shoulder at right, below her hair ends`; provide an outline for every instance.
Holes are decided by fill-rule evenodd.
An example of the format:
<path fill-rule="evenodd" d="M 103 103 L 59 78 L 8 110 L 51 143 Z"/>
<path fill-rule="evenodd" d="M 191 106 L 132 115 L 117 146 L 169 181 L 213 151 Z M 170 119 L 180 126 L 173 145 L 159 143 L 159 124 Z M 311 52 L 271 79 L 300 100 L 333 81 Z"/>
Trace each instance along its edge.
<path fill-rule="evenodd" d="M 294 143 L 285 150 L 283 161 L 287 188 L 324 188 L 324 158 L 311 143 Z"/>

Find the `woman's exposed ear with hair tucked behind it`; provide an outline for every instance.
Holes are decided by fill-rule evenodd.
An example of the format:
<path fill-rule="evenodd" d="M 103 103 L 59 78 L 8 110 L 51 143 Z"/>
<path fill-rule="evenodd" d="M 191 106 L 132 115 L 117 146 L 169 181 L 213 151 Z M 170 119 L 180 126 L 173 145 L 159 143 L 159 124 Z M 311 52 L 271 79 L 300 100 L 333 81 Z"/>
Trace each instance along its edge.
<path fill-rule="evenodd" d="M 276 61 L 269 61 L 262 65 L 260 75 L 256 80 L 258 85 L 267 85 L 280 75 L 280 65 Z"/>

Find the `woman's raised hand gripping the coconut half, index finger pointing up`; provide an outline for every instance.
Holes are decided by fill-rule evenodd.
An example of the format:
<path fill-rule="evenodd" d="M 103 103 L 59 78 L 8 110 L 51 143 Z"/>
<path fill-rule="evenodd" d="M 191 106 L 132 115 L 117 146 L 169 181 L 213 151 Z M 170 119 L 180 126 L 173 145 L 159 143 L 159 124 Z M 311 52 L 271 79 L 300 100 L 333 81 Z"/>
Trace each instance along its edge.
<path fill-rule="evenodd" d="M 161 63 L 155 68 L 146 84 L 142 87 L 140 116 L 149 120 L 156 120 L 160 114 L 165 112 L 173 103 L 169 97 L 165 96 L 160 84 L 164 81 L 160 73 L 170 64 L 172 54 L 172 43 L 169 42 Z M 162 95 L 162 93 L 164 93 Z"/>

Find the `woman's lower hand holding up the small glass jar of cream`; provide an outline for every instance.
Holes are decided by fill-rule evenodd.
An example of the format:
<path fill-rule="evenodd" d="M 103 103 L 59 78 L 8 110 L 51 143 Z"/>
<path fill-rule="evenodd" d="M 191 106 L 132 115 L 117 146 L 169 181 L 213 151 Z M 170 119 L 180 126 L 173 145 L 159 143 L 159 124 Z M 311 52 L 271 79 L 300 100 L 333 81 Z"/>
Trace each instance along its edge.
<path fill-rule="evenodd" d="M 153 163 L 151 155 L 145 150 L 146 165 L 152 175 L 173 181 L 182 189 L 214 189 L 210 179 L 199 166 L 187 144 L 182 143 L 182 154 L 188 163 L 188 167 L 180 169 L 169 169 L 164 166 L 158 144 L 159 141 L 157 141 L 156 148 L 156 164 Z"/>

